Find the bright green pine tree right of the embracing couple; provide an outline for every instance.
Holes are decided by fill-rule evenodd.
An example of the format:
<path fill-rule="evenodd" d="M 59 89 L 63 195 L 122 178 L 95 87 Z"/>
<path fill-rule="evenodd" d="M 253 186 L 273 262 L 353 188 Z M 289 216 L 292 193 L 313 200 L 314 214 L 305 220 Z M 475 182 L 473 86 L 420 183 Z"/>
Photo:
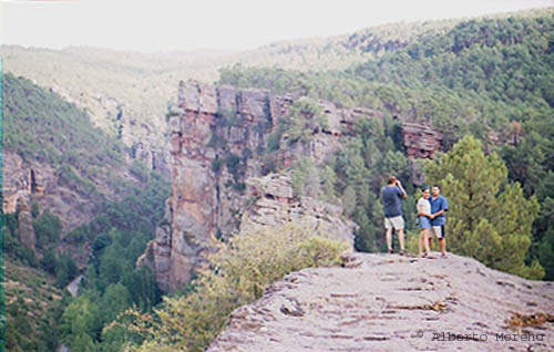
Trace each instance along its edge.
<path fill-rule="evenodd" d="M 485 156 L 481 142 L 462 138 L 453 149 L 425 167 L 428 182 L 440 183 L 449 200 L 447 234 L 450 250 L 522 277 L 541 279 L 537 261 L 524 262 L 538 203 L 525 199 L 519 183 L 495 153 Z"/>

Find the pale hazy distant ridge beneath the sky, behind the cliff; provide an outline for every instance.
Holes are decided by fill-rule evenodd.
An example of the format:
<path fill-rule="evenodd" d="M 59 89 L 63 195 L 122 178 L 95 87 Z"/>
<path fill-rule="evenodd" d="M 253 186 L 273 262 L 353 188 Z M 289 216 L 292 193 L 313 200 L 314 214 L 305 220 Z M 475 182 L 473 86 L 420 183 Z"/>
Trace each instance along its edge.
<path fill-rule="evenodd" d="M 551 10 L 529 10 L 488 18 L 534 18 Z M 163 146 L 167 100 L 175 96 L 181 80 L 213 83 L 218 70 L 244 66 L 277 66 L 298 71 L 345 70 L 372 61 L 418 39 L 440 35 L 465 19 L 391 23 L 330 38 L 281 41 L 243 52 L 205 51 L 145 54 L 94 48 L 63 50 L 3 45 L 4 71 L 22 75 L 90 106 L 98 126 L 121 136 L 130 147 L 144 149 L 152 159 Z M 114 101 L 121 115 L 99 106 L 99 97 Z M 160 157 L 160 156 L 158 156 Z M 152 161 L 146 164 L 152 164 Z"/>

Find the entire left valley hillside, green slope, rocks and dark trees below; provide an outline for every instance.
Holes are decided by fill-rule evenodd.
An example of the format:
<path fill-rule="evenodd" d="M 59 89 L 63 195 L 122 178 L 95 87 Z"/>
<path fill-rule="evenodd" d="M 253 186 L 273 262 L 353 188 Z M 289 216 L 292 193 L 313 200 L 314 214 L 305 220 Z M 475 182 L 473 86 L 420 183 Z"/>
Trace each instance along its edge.
<path fill-rule="evenodd" d="M 162 218 L 170 187 L 58 94 L 9 73 L 2 87 L 4 210 L 17 203 L 1 219 L 2 340 L 8 351 L 53 351 L 62 340 L 74 344 L 81 333 L 62 325 L 72 304 L 64 289 L 80 269 L 89 268 L 85 282 L 98 300 L 106 290 L 124 294 L 120 308 L 95 318 L 94 333 L 117 309 L 147 309 L 160 300 L 152 273 L 135 270 L 134 262 Z M 93 283 L 96 275 L 102 279 Z"/>

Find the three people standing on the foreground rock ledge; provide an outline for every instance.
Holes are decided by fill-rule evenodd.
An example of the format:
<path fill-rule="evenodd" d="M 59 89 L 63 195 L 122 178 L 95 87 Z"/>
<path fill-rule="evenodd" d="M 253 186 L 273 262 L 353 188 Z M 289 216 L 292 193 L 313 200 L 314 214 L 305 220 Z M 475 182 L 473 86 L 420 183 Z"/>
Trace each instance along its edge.
<path fill-rule="evenodd" d="M 424 187 L 421 191 L 421 198 L 418 200 L 418 226 L 420 228 L 420 238 L 418 242 L 419 256 L 431 257 L 432 236 L 439 241 L 439 249 L 442 258 L 447 257 L 445 242 L 445 211 L 448 211 L 448 200 L 441 194 L 439 185 L 433 185 L 431 189 Z M 381 201 L 384 209 L 384 230 L 388 252 L 392 253 L 392 229 L 397 230 L 400 245 L 400 255 L 406 253 L 404 249 L 404 219 L 402 217 L 401 200 L 407 198 L 407 193 L 400 180 L 394 176 L 387 179 L 387 186 L 381 189 Z M 425 251 L 423 252 L 423 247 Z"/>

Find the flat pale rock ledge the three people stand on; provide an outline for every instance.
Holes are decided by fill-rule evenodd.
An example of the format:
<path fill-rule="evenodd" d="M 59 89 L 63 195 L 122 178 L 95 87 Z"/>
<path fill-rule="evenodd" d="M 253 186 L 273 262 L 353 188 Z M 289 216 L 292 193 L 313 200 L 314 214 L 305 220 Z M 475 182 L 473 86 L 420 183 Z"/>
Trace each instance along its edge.
<path fill-rule="evenodd" d="M 353 253 L 236 309 L 207 352 L 552 351 L 554 284 L 474 259 Z"/>

